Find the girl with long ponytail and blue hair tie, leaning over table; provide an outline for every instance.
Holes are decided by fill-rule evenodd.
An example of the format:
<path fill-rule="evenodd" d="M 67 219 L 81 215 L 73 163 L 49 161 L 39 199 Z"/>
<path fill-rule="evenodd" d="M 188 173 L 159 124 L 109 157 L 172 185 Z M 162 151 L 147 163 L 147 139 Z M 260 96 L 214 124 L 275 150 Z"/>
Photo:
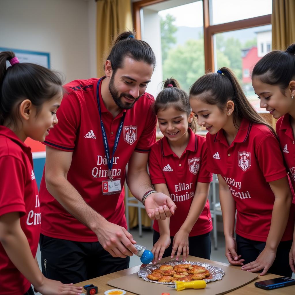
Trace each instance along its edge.
<path fill-rule="evenodd" d="M 263 270 L 260 275 L 291 277 L 292 194 L 274 130 L 228 68 L 199 78 L 191 86 L 190 104 L 208 130 L 207 169 L 219 180 L 228 261 L 242 270 Z"/>

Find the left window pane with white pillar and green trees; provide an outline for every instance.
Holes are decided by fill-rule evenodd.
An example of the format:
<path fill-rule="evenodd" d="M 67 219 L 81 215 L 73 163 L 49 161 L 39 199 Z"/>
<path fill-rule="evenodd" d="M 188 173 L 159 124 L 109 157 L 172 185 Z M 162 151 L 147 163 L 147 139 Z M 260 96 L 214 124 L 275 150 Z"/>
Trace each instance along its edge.
<path fill-rule="evenodd" d="M 169 0 L 145 6 L 141 20 L 141 37 L 151 45 L 157 60 L 148 92 L 156 96 L 160 81 L 171 77 L 188 92 L 205 73 L 203 2 Z"/>

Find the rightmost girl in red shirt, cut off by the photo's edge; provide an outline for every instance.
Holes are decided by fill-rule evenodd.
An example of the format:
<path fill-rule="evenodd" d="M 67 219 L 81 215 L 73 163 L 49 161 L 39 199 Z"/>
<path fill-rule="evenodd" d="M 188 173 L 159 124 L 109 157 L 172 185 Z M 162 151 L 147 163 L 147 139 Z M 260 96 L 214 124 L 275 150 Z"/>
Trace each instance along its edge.
<path fill-rule="evenodd" d="M 252 85 L 260 98 L 260 107 L 265 108 L 275 119 L 276 132 L 291 187 L 295 190 L 295 43 L 287 50 L 274 50 L 266 54 L 253 68 Z M 291 212 L 294 211 L 293 199 Z M 289 253 L 289 264 L 295 273 L 295 232 Z"/>

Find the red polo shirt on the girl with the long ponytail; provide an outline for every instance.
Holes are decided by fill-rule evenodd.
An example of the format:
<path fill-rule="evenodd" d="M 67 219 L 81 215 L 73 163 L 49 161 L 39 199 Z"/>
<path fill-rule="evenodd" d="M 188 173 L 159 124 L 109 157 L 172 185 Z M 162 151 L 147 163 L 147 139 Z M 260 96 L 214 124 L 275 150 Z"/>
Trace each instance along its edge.
<path fill-rule="evenodd" d="M 268 182 L 287 175 L 278 140 L 267 126 L 246 119 L 230 146 L 223 130 L 206 140 L 207 169 L 224 178 L 236 202 L 237 234 L 265 242 L 275 200 Z M 293 227 L 289 218 L 282 241 L 292 240 Z"/>

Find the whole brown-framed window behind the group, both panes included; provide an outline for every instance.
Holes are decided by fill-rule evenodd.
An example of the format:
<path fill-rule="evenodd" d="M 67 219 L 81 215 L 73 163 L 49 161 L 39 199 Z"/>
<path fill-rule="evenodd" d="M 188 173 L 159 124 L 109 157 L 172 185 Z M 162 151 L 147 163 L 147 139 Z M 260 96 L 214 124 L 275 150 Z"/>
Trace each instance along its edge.
<path fill-rule="evenodd" d="M 272 0 L 134 2 L 135 29 L 142 34 L 138 37 L 151 45 L 157 58 L 148 92 L 156 96 L 159 81 L 170 76 L 188 91 L 205 71 L 228 66 L 253 106 L 263 112 L 254 95 L 251 70 L 271 50 L 271 11 Z"/>

